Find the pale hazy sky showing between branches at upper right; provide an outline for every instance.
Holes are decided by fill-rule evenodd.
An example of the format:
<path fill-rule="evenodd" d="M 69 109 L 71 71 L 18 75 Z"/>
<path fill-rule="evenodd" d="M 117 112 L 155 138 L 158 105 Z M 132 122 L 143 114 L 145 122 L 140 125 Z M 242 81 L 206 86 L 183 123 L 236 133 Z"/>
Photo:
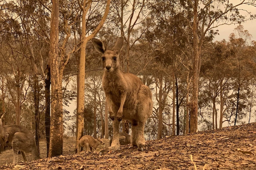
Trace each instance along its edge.
<path fill-rule="evenodd" d="M 240 0 L 232 0 L 230 1 L 232 2 L 234 5 L 238 4 L 239 2 L 241 2 Z M 253 6 L 249 6 L 249 5 L 241 5 L 241 7 L 243 10 L 252 12 L 252 14 L 256 14 L 256 7 Z M 245 11 L 240 11 L 241 13 L 247 14 Z M 256 41 L 256 20 L 254 21 L 247 21 L 246 23 L 242 23 L 241 25 L 244 26 L 244 30 L 248 30 L 249 33 L 252 35 L 252 39 Z M 225 39 L 226 41 L 228 41 L 228 37 L 230 35 L 230 33 L 234 33 L 234 28 L 237 27 L 238 25 L 222 25 L 219 26 L 217 29 L 219 30 L 219 35 L 216 35 L 214 38 L 214 41 L 221 41 L 223 39 Z"/>

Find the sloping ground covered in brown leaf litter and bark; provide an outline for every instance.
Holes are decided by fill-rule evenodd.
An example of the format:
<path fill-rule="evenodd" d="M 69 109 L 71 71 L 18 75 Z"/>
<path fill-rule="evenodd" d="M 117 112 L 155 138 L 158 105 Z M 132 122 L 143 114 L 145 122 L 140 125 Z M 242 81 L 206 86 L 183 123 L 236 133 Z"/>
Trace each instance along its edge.
<path fill-rule="evenodd" d="M 256 123 L 146 141 L 146 145 L 148 150 L 144 152 L 124 145 L 103 156 L 97 151 L 74 154 L 75 139 L 69 138 L 64 139 L 63 156 L 45 158 L 40 150 L 44 159 L 16 166 L 10 164 L 12 150 L 4 151 L 0 154 L 0 169 L 256 170 Z"/>

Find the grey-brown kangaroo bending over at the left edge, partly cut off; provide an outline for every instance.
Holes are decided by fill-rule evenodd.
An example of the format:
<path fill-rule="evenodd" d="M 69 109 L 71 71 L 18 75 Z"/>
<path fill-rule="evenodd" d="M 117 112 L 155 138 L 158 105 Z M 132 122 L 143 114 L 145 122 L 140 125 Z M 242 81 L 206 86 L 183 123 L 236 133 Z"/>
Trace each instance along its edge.
<path fill-rule="evenodd" d="M 13 163 L 18 163 L 18 152 L 20 151 L 23 161 L 27 161 L 25 153 L 31 153 L 34 159 L 41 159 L 37 152 L 37 145 L 34 135 L 24 126 L 6 125 L 3 126 L 0 114 L 0 137 L 4 139 L 4 144 L 8 141 L 12 144 Z"/>

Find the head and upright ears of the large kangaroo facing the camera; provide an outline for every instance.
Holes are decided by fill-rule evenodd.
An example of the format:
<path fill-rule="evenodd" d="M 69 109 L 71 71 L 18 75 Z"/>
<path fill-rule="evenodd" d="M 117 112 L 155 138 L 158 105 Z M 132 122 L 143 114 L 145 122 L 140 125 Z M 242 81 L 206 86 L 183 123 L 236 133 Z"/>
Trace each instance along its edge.
<path fill-rule="evenodd" d="M 120 62 L 119 55 L 124 45 L 124 37 L 119 37 L 111 50 L 108 50 L 106 44 L 96 38 L 93 38 L 91 41 L 94 48 L 102 53 L 102 66 L 105 71 L 112 72 L 118 69 Z"/>

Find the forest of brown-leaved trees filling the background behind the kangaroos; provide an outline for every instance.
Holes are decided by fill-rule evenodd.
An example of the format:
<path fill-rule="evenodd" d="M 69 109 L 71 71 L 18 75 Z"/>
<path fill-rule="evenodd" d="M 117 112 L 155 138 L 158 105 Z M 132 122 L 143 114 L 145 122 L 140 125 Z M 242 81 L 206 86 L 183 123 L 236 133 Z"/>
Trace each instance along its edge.
<path fill-rule="evenodd" d="M 121 69 L 153 93 L 146 140 L 255 121 L 256 41 L 242 24 L 255 19 L 243 5 L 256 4 L 234 2 L 0 0 L 4 124 L 27 127 L 37 145 L 46 138 L 49 156 L 62 153 L 64 134 L 110 138 L 90 40 L 113 46 L 120 36 Z M 233 24 L 227 40 L 214 41 Z M 120 131 L 129 133 L 129 122 Z"/>

